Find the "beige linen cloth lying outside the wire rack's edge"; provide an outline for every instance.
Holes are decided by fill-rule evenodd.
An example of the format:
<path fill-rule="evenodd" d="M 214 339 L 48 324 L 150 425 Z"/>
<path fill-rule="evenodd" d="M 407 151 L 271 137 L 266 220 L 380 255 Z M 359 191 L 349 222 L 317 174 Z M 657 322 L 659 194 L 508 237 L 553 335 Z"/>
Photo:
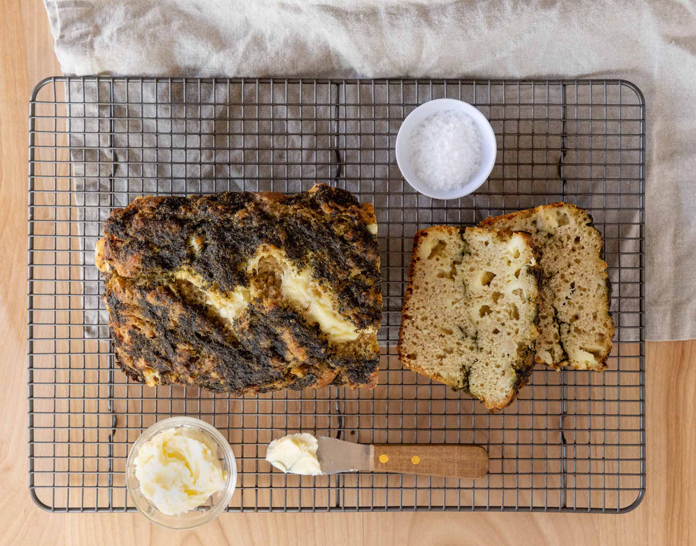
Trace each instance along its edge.
<path fill-rule="evenodd" d="M 45 0 L 65 74 L 618 77 L 647 103 L 647 338 L 696 337 L 689 1 Z"/>

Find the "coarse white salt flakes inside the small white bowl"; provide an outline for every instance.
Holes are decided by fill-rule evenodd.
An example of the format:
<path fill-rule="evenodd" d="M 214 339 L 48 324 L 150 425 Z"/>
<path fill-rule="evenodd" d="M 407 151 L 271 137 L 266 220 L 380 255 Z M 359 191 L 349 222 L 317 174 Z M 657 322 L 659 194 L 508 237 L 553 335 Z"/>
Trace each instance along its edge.
<path fill-rule="evenodd" d="M 409 138 L 411 166 L 423 184 L 448 190 L 464 186 L 481 166 L 481 133 L 473 118 L 443 110 L 422 120 Z"/>

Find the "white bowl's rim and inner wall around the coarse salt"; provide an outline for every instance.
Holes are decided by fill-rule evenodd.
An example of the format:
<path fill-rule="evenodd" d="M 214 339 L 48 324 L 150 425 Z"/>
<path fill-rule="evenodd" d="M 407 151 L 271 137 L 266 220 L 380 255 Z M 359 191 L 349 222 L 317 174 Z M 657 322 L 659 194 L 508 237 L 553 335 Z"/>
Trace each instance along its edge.
<path fill-rule="evenodd" d="M 481 134 L 481 163 L 478 172 L 463 186 L 450 189 L 435 189 L 429 187 L 418 178 L 416 170 L 411 165 L 411 150 L 409 150 L 409 138 L 420 122 L 434 113 L 445 110 L 457 110 L 464 112 L 473 118 Z M 416 110 L 406 116 L 401 124 L 396 137 L 396 162 L 401 174 L 413 189 L 435 199 L 457 199 L 476 191 L 491 174 L 496 164 L 496 134 L 486 116 L 468 102 L 457 99 L 435 99 L 418 106 Z"/>

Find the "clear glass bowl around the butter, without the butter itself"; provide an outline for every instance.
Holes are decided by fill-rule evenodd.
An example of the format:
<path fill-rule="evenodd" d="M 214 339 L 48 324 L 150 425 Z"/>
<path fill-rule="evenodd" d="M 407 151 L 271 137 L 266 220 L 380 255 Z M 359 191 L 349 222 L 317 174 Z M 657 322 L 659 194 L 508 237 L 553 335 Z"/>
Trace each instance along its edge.
<path fill-rule="evenodd" d="M 225 487 L 210 496 L 207 503 L 203 506 L 198 506 L 195 510 L 189 510 L 186 513 L 179 515 L 167 515 L 157 510 L 157 507 L 150 503 L 145 495 L 140 490 L 140 482 L 135 476 L 135 458 L 138 456 L 138 451 L 145 442 L 152 440 L 161 431 L 166 431 L 168 428 L 179 428 L 180 426 L 189 426 L 207 435 L 218 448 L 218 457 L 220 459 L 223 471 L 227 472 Z M 169 529 L 194 529 L 203 524 L 211 522 L 219 516 L 232 499 L 232 493 L 235 492 L 237 485 L 237 463 L 235 462 L 235 454 L 232 453 L 230 444 L 225 437 L 212 425 L 207 424 L 200 419 L 193 417 L 170 417 L 158 421 L 145 432 L 143 432 L 138 440 L 135 441 L 133 447 L 128 453 L 126 461 L 126 488 L 133 499 L 133 502 L 145 517 L 151 522 L 154 522 L 162 527 Z"/>

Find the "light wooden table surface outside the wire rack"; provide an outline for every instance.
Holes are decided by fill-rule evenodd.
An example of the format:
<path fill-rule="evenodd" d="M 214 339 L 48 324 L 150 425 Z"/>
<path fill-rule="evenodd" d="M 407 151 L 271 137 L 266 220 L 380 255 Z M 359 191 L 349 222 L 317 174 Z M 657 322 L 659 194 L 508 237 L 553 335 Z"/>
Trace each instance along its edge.
<path fill-rule="evenodd" d="M 0 18 L 0 543 L 8 545 L 691 545 L 696 543 L 696 341 L 647 344 L 647 493 L 626 515 L 223 514 L 189 532 L 139 514 L 65 515 L 27 487 L 26 189 L 31 89 L 60 74 L 40 0 Z"/>

